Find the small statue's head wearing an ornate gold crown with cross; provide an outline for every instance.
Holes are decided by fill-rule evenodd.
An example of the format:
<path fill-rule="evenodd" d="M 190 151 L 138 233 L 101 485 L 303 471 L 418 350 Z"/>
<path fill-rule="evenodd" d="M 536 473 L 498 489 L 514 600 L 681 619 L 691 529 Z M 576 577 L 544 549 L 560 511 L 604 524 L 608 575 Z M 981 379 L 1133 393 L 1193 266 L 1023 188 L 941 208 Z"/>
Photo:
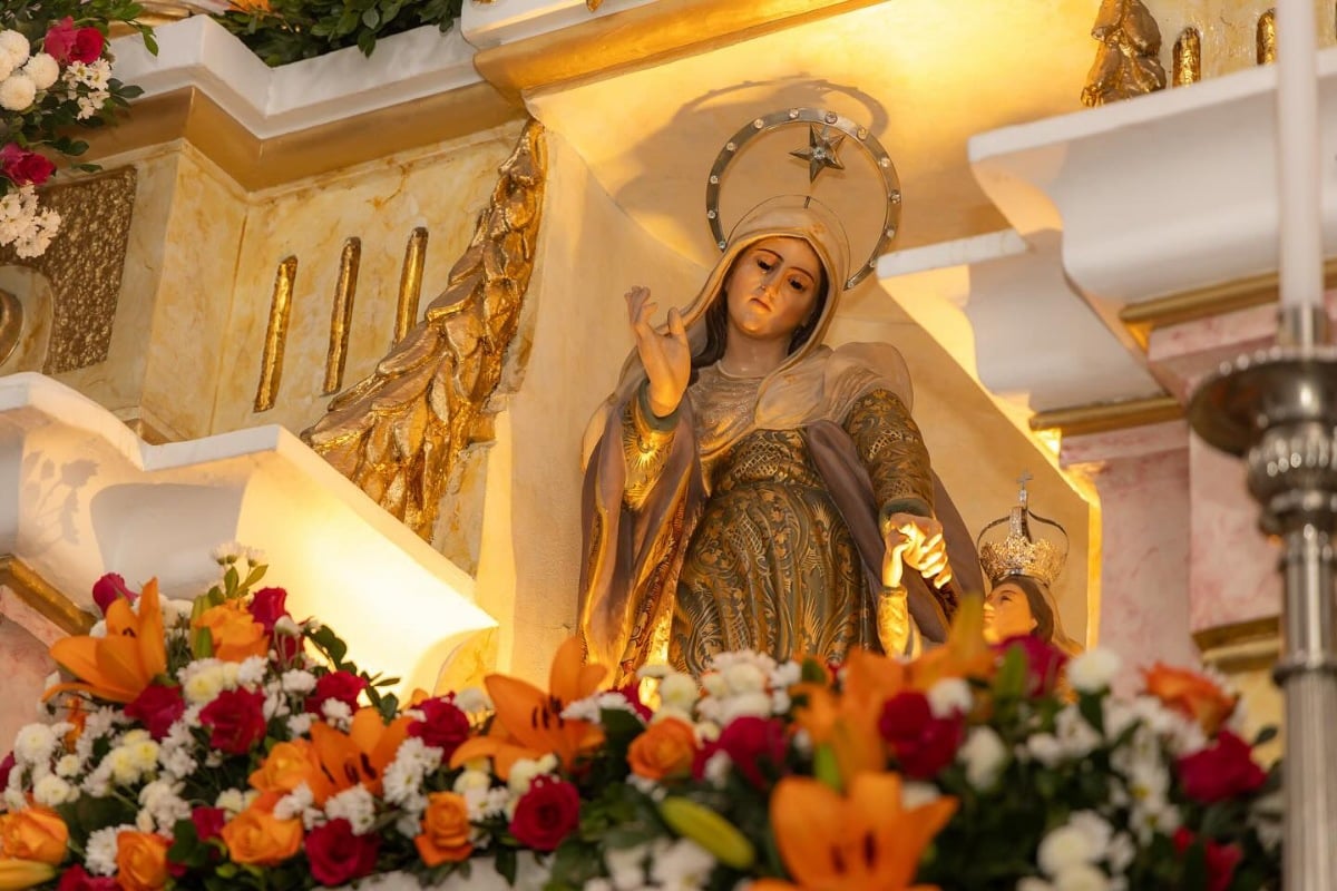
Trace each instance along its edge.
<path fill-rule="evenodd" d="M 1056 521 L 1031 510 L 1025 490 L 1029 480 L 1029 473 L 1021 474 L 1016 505 L 1005 517 L 984 526 L 976 538 L 980 566 L 989 582 L 985 636 L 1000 643 L 1028 635 L 1066 653 L 1078 653 L 1082 645 L 1064 632 L 1054 596 L 1054 582 L 1068 556 L 1068 533 Z"/>

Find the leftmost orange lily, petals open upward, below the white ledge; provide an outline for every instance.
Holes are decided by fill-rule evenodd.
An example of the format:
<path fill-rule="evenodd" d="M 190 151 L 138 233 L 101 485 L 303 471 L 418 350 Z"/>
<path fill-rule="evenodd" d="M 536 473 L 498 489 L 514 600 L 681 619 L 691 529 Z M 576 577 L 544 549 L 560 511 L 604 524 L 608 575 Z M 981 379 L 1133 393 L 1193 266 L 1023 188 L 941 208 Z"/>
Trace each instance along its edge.
<path fill-rule="evenodd" d="M 111 703 L 132 703 L 154 677 L 167 671 L 158 580 L 144 585 L 139 613 L 118 598 L 107 608 L 107 636 L 80 635 L 51 645 L 51 657 L 79 680 L 51 687 L 44 700 L 82 691 Z"/>

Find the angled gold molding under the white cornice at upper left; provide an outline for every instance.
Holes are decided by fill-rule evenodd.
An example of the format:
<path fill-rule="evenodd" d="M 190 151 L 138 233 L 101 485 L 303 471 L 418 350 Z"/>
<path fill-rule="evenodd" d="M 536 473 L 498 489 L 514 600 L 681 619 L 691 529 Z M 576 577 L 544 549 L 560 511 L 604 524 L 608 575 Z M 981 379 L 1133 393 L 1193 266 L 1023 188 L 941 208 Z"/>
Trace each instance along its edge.
<path fill-rule="evenodd" d="M 83 160 L 186 139 L 247 190 L 257 191 L 520 120 L 523 110 L 488 83 L 261 139 L 197 87 L 142 99 L 116 127 L 88 140 Z"/>

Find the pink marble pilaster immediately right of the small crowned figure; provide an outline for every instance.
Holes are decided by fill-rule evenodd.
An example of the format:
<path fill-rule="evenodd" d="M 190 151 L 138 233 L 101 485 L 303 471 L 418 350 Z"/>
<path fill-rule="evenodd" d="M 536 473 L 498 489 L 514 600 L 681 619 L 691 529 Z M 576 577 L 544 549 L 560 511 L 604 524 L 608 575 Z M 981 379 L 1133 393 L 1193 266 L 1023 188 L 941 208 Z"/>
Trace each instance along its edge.
<path fill-rule="evenodd" d="M 1128 668 L 1195 664 L 1189 633 L 1189 431 L 1179 422 L 1068 437 L 1062 460 L 1100 496 L 1099 644 Z M 1124 677 L 1135 680 L 1128 672 Z"/>

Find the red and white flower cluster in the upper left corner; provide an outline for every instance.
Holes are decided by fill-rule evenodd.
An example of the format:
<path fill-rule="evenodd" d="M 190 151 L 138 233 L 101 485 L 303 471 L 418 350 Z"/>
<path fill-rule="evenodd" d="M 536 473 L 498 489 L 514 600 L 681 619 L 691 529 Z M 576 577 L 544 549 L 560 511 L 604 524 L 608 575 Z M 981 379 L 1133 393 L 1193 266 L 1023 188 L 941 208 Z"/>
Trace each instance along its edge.
<path fill-rule="evenodd" d="M 70 132 L 102 127 L 142 91 L 111 76 L 112 23 L 152 31 L 130 0 L 28 0 L 0 7 L 0 246 L 40 256 L 60 228 L 37 187 L 56 170 L 51 155 L 78 158 L 88 144 Z M 98 170 L 72 164 L 75 170 Z"/>

